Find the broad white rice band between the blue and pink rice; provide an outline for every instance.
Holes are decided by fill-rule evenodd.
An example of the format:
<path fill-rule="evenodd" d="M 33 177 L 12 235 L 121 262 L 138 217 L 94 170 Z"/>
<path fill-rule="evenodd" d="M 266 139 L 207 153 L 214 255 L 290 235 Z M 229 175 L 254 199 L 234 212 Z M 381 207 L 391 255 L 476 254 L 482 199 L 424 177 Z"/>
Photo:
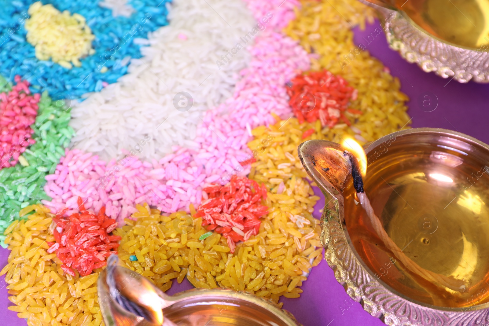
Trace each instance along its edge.
<path fill-rule="evenodd" d="M 150 46 L 141 48 L 142 58 L 131 60 L 128 74 L 74 103 L 75 148 L 109 160 L 149 135 L 152 141 L 138 156 L 159 159 L 172 146 L 194 146 L 202 114 L 231 97 L 250 55 L 243 48 L 220 68 L 216 61 L 256 23 L 244 3 L 175 0 L 168 18 L 168 26 L 148 33 Z M 193 98 L 192 108 L 183 112 L 174 106 L 182 91 Z"/>

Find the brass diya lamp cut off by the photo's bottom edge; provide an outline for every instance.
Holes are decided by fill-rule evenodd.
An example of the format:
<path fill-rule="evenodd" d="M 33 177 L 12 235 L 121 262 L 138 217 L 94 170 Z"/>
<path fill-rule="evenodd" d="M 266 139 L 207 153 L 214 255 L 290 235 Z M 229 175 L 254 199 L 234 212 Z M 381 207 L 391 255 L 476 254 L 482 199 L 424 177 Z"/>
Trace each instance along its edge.
<path fill-rule="evenodd" d="M 228 289 L 192 289 L 166 295 L 154 283 L 109 256 L 97 280 L 106 326 L 301 326 L 265 299 Z"/>

